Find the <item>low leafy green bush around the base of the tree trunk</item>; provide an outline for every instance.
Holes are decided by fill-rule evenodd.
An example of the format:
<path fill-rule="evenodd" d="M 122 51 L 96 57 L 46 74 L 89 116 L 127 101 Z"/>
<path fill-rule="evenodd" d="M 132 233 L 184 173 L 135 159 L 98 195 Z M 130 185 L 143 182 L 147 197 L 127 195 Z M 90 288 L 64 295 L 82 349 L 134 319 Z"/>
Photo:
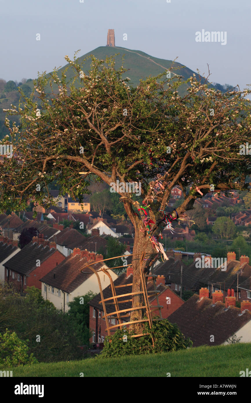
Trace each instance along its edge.
<path fill-rule="evenodd" d="M 192 345 L 190 339 L 185 339 L 176 324 L 167 319 L 155 321 L 152 328 L 145 324 L 145 334 L 142 337 L 131 337 L 131 330 L 116 330 L 112 336 L 106 336 L 104 349 L 99 357 L 121 357 L 122 355 L 151 354 L 186 349 Z M 154 333 L 155 343 L 152 346 L 151 334 Z M 127 341 L 123 341 L 127 337 Z M 111 343 L 109 339 L 112 339 Z"/>

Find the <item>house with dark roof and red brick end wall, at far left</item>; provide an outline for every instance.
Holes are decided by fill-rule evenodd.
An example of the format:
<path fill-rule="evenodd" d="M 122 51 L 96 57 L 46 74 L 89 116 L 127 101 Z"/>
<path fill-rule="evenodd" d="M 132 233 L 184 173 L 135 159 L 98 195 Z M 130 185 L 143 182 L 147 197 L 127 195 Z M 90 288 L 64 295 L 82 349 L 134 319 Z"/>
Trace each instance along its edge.
<path fill-rule="evenodd" d="M 14 284 L 17 291 L 23 292 L 32 286 L 41 289 L 39 279 L 64 259 L 55 242 L 33 237 L 32 242 L 3 264 L 4 280 Z"/>

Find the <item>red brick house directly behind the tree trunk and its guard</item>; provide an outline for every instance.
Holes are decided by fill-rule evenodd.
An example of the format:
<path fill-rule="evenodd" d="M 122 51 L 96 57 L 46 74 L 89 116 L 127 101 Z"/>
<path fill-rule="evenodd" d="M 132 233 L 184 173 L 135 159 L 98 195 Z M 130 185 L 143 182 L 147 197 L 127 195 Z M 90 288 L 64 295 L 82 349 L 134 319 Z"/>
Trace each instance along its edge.
<path fill-rule="evenodd" d="M 133 270 L 131 266 L 127 267 L 127 272 L 120 274 L 120 276 L 114 281 L 114 287 L 116 287 L 116 294 L 123 295 L 130 293 L 132 291 L 132 283 L 133 281 Z M 156 279 L 156 289 L 158 291 L 158 299 L 159 304 L 163 306 L 161 310 L 162 318 L 168 318 L 172 312 L 174 312 L 178 307 L 183 305 L 184 301 L 176 293 L 172 292 L 168 287 L 165 286 L 165 278 L 163 276 L 158 276 Z M 123 287 L 124 286 L 124 287 Z M 154 284 L 151 278 L 147 282 L 147 291 L 154 291 Z M 112 290 L 111 286 L 109 285 L 106 289 L 103 289 L 103 297 L 104 299 L 112 297 Z M 103 305 L 100 303 L 101 295 L 100 293 L 96 295 L 91 301 L 88 302 L 90 305 L 90 318 L 89 318 L 89 328 L 92 332 L 90 342 L 93 343 L 103 343 L 105 336 L 108 334 L 106 331 L 106 320 L 103 319 Z M 119 301 L 119 300 L 118 300 Z M 154 308 L 157 303 L 156 296 L 149 298 L 149 303 L 152 316 L 159 316 L 158 308 Z M 127 310 L 126 312 L 122 313 L 121 319 L 124 326 L 127 326 L 127 322 L 130 321 L 130 308 L 132 303 L 130 300 L 126 300 L 125 302 L 119 303 L 120 310 Z M 114 304 L 106 304 L 106 312 L 112 313 L 114 312 Z M 116 316 L 111 315 L 108 316 L 108 322 L 110 325 L 117 325 L 118 319 Z M 118 327 L 111 329 L 111 333 L 115 332 Z"/>

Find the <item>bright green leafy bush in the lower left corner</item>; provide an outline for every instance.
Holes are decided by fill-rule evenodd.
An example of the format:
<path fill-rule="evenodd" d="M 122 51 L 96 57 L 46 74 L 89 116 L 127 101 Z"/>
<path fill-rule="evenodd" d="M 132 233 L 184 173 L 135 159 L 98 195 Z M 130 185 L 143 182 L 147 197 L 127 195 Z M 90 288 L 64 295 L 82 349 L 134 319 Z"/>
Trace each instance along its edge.
<path fill-rule="evenodd" d="M 19 366 L 37 363 L 33 353 L 28 355 L 28 349 L 29 347 L 17 337 L 15 332 L 6 329 L 4 334 L 0 333 L 0 364 Z"/>

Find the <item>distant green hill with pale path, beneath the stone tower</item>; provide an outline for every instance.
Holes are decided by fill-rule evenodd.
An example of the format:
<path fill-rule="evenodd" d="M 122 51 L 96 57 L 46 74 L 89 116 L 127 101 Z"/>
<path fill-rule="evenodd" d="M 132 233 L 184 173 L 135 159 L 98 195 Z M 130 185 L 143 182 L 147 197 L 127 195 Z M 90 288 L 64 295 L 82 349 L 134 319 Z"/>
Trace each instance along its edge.
<path fill-rule="evenodd" d="M 158 75 L 159 73 L 164 73 L 165 71 L 168 71 L 171 66 L 173 66 L 173 72 L 182 75 L 184 77 L 184 80 L 187 78 L 191 77 L 193 73 L 195 73 L 193 70 L 189 69 L 187 66 L 184 66 L 182 69 L 175 70 L 176 68 L 182 67 L 183 64 L 174 62 L 172 64 L 172 60 L 165 60 L 165 59 L 159 59 L 154 56 L 150 56 L 149 54 L 145 52 L 141 52 L 141 50 L 132 50 L 132 49 L 127 49 L 127 48 L 121 48 L 119 46 L 100 46 L 94 50 L 91 50 L 91 52 L 88 52 L 84 54 L 83 56 L 79 57 L 79 64 L 83 61 L 84 58 L 87 56 L 90 56 L 91 54 L 95 56 L 97 59 L 105 59 L 106 56 L 112 56 L 114 54 L 118 54 L 118 56 L 115 56 L 115 62 L 118 64 L 118 66 L 121 66 L 121 58 L 124 55 L 124 62 L 123 62 L 123 67 L 126 69 L 130 69 L 126 73 L 124 73 L 124 78 L 129 77 L 131 79 L 130 84 L 133 87 L 136 87 L 139 84 L 140 79 L 144 79 L 145 77 L 154 77 Z M 60 72 L 66 67 L 69 66 L 68 71 L 66 72 L 66 79 L 70 80 L 71 78 L 74 77 L 75 72 L 73 71 L 71 65 L 68 63 L 63 66 L 59 70 Z M 90 69 L 91 66 L 91 58 L 86 60 L 85 64 L 83 64 L 83 71 L 84 73 L 87 74 L 87 71 Z M 171 77 L 174 73 L 171 71 Z M 195 73 L 197 79 L 199 79 L 199 75 Z M 8 82 L 10 83 L 10 82 Z M 7 83 L 7 84 L 8 84 Z M 27 87 L 32 90 L 33 89 L 33 81 L 27 81 L 25 84 L 25 89 L 27 91 Z M 23 87 L 23 85 L 21 85 Z M 184 96 L 186 93 L 188 85 L 183 84 L 179 87 L 178 91 L 180 96 Z M 229 87 L 232 88 L 231 85 L 220 85 L 214 83 L 212 87 L 219 89 L 222 92 L 225 92 Z M 56 87 L 55 87 L 56 89 Z M 2 97 L 2 98 L 1 98 Z M 12 90 L 11 92 L 4 92 L 4 90 L 0 91 L 0 138 L 4 137 L 4 135 L 8 134 L 8 129 L 4 127 L 4 117 L 5 114 L 2 110 L 2 108 L 10 108 L 10 104 L 15 104 L 18 106 L 18 99 L 19 99 L 19 93 L 16 90 Z M 17 118 L 13 117 L 13 119 L 10 120 L 17 120 Z"/>

